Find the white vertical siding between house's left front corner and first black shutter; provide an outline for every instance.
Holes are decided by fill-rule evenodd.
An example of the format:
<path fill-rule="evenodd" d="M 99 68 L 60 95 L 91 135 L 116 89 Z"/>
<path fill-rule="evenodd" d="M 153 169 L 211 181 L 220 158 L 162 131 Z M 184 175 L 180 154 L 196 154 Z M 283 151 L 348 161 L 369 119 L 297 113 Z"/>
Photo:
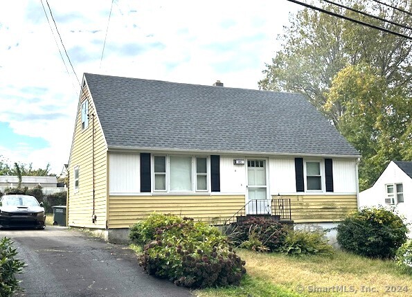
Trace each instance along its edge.
<path fill-rule="evenodd" d="M 110 192 L 136 193 L 140 189 L 138 154 L 109 154 Z"/>

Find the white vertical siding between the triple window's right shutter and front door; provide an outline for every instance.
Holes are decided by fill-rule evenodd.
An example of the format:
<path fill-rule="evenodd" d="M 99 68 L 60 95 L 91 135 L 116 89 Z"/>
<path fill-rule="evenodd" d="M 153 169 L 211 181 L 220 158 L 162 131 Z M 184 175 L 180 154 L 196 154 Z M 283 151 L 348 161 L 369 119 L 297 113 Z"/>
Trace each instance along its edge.
<path fill-rule="evenodd" d="M 246 192 L 246 166 L 233 165 L 234 156 L 220 156 L 220 192 L 244 195 Z"/>

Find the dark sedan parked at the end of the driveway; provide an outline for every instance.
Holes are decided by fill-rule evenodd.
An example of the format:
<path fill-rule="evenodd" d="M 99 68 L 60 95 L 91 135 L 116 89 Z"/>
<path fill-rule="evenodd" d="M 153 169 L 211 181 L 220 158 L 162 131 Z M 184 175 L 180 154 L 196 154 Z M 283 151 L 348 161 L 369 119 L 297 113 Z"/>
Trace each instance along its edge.
<path fill-rule="evenodd" d="M 4 195 L 0 199 L 0 228 L 44 229 L 46 215 L 42 204 L 29 195 Z"/>

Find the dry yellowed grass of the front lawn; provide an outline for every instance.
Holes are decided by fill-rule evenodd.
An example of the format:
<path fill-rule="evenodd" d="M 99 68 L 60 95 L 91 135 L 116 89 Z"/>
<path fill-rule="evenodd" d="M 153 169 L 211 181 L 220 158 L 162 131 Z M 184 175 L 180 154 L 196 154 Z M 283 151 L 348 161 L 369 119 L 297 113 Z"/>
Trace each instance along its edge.
<path fill-rule="evenodd" d="M 238 251 L 246 261 L 247 273 L 252 277 L 268 280 L 285 289 L 295 291 L 303 286 L 303 296 L 411 296 L 412 276 L 398 271 L 391 261 L 370 260 L 343 251 L 325 256 L 293 258 L 278 253 L 264 254 Z M 308 293 L 316 288 L 331 288 L 329 292 Z M 350 292 L 333 292 L 334 289 Z M 362 291 L 362 288 L 364 291 Z M 373 289 L 372 289 L 373 288 Z M 373 292 L 367 292 L 367 290 Z M 397 292 L 394 293 L 393 289 Z M 408 291 L 406 291 L 407 289 Z M 322 289 L 319 289 L 322 290 Z"/>

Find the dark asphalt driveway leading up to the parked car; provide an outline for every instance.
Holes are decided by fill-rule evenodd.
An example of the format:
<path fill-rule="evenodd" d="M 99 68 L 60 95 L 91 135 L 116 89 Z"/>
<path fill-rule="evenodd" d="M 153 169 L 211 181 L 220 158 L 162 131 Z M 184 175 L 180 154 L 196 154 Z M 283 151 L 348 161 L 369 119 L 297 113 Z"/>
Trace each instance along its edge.
<path fill-rule="evenodd" d="M 188 297 L 188 289 L 148 276 L 127 246 L 64 227 L 0 231 L 11 237 L 28 266 L 18 275 L 26 291 L 16 296 Z"/>

